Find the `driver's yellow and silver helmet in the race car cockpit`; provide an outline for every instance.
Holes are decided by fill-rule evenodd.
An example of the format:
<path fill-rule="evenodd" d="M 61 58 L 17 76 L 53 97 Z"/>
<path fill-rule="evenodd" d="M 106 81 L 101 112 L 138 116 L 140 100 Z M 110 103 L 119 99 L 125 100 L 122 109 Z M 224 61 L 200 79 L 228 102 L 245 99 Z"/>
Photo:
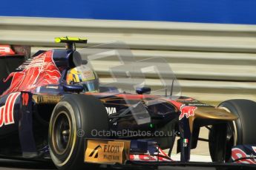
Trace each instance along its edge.
<path fill-rule="evenodd" d="M 96 72 L 84 65 L 69 69 L 66 80 L 67 84 L 83 86 L 83 92 L 99 92 L 99 78 Z"/>

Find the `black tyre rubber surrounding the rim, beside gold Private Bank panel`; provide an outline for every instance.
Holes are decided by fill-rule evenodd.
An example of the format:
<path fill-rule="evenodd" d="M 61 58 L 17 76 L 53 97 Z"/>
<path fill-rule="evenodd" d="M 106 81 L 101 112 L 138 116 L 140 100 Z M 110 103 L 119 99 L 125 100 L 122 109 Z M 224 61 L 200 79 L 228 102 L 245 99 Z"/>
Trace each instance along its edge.
<path fill-rule="evenodd" d="M 93 129 L 108 130 L 108 113 L 101 101 L 93 96 L 68 95 L 53 109 L 51 121 L 54 115 L 56 115 L 59 110 L 63 109 L 63 107 L 70 113 L 71 122 L 74 127 L 72 130 L 74 137 L 73 145 L 70 148 L 70 154 L 68 154 L 66 160 L 59 163 L 59 155 L 51 150 L 52 145 L 50 144 L 50 140 L 53 132 L 53 122 L 50 122 L 50 156 L 58 169 L 84 169 L 85 166 L 91 166 L 91 164 L 84 163 L 85 138 L 94 137 L 91 135 Z M 82 132 L 82 134 L 79 134 L 79 132 Z"/>

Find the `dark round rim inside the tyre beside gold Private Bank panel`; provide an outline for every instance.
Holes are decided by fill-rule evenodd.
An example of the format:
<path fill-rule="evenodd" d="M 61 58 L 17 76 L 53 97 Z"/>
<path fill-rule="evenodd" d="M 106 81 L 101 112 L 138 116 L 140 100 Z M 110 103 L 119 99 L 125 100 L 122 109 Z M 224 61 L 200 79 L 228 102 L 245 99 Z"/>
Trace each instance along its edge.
<path fill-rule="evenodd" d="M 71 121 L 67 112 L 56 115 L 53 122 L 53 149 L 56 154 L 64 154 L 70 145 Z"/>

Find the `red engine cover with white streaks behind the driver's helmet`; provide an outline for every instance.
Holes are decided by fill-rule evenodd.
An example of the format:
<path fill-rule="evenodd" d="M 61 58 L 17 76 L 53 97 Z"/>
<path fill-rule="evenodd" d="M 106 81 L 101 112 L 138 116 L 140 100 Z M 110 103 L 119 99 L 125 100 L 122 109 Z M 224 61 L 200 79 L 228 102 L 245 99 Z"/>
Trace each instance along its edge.
<path fill-rule="evenodd" d="M 59 84 L 61 73 L 53 61 L 53 52 L 47 51 L 33 58 L 33 61 L 21 72 L 12 72 L 4 82 L 13 78 L 9 89 L 3 95 L 11 92 L 32 92 L 38 86 Z"/>

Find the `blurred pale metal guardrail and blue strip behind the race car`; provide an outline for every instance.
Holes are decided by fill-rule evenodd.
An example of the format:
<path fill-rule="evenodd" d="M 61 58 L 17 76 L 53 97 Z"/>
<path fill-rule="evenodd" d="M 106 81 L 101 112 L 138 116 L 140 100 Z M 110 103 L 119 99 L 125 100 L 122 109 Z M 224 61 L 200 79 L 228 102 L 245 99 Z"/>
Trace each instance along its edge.
<path fill-rule="evenodd" d="M 62 47 L 53 41 L 59 36 L 86 37 L 87 47 L 123 41 L 140 59 L 165 58 L 183 95 L 214 105 L 256 101 L 255 7 L 254 0 L 1 1 L 0 44 L 30 45 L 33 54 Z"/>

